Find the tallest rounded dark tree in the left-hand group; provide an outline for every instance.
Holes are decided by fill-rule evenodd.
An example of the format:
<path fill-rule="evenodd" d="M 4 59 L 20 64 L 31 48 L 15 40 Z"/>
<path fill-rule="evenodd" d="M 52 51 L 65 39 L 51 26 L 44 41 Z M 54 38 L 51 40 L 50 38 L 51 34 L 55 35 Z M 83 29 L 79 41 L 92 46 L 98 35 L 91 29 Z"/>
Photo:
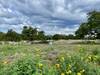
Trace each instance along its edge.
<path fill-rule="evenodd" d="M 45 34 L 43 31 L 38 31 L 37 28 L 24 26 L 22 30 L 23 40 L 44 40 Z"/>

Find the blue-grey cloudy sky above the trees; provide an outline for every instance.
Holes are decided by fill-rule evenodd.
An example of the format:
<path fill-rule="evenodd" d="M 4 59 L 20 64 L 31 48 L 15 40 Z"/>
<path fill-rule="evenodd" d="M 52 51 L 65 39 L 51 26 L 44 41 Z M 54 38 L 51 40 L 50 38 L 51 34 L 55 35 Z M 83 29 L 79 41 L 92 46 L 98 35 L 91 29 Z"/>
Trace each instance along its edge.
<path fill-rule="evenodd" d="M 100 0 L 0 0 L 0 31 L 29 25 L 46 34 L 73 34 L 87 12 L 99 9 Z"/>

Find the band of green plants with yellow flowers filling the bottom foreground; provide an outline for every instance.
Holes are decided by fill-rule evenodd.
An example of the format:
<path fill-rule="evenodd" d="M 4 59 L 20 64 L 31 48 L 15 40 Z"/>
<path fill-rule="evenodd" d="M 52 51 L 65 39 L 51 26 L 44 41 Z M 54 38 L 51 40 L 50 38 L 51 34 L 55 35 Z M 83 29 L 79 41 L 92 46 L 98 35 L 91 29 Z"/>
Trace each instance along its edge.
<path fill-rule="evenodd" d="M 100 69 L 94 62 L 100 63 L 100 59 L 95 60 L 95 55 L 88 57 L 77 53 L 63 55 L 59 56 L 53 64 L 44 63 L 41 59 L 33 60 L 32 57 L 25 57 L 1 70 L 0 75 L 99 75 Z"/>

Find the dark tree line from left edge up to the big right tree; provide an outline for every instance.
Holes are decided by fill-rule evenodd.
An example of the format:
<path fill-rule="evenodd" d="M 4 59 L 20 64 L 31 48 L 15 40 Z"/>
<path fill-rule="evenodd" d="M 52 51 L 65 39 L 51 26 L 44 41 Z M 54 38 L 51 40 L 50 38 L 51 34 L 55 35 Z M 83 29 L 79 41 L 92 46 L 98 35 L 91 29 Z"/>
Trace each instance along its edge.
<path fill-rule="evenodd" d="M 7 33 L 0 32 L 0 41 L 34 41 L 34 40 L 59 40 L 59 39 L 74 39 L 73 35 L 45 35 L 44 31 L 38 31 L 37 28 L 24 26 L 21 33 L 17 33 L 13 29 L 9 29 Z"/>

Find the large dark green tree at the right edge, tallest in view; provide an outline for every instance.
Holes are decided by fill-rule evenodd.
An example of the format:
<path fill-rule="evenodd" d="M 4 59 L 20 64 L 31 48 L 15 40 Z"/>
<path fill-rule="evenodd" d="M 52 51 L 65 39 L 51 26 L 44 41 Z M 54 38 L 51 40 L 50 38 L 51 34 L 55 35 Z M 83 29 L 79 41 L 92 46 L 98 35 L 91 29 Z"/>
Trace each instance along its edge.
<path fill-rule="evenodd" d="M 75 32 L 77 38 L 84 38 L 86 35 L 93 35 L 100 39 L 100 12 L 92 11 L 88 13 L 88 20 L 86 23 L 82 23 L 79 29 Z"/>

